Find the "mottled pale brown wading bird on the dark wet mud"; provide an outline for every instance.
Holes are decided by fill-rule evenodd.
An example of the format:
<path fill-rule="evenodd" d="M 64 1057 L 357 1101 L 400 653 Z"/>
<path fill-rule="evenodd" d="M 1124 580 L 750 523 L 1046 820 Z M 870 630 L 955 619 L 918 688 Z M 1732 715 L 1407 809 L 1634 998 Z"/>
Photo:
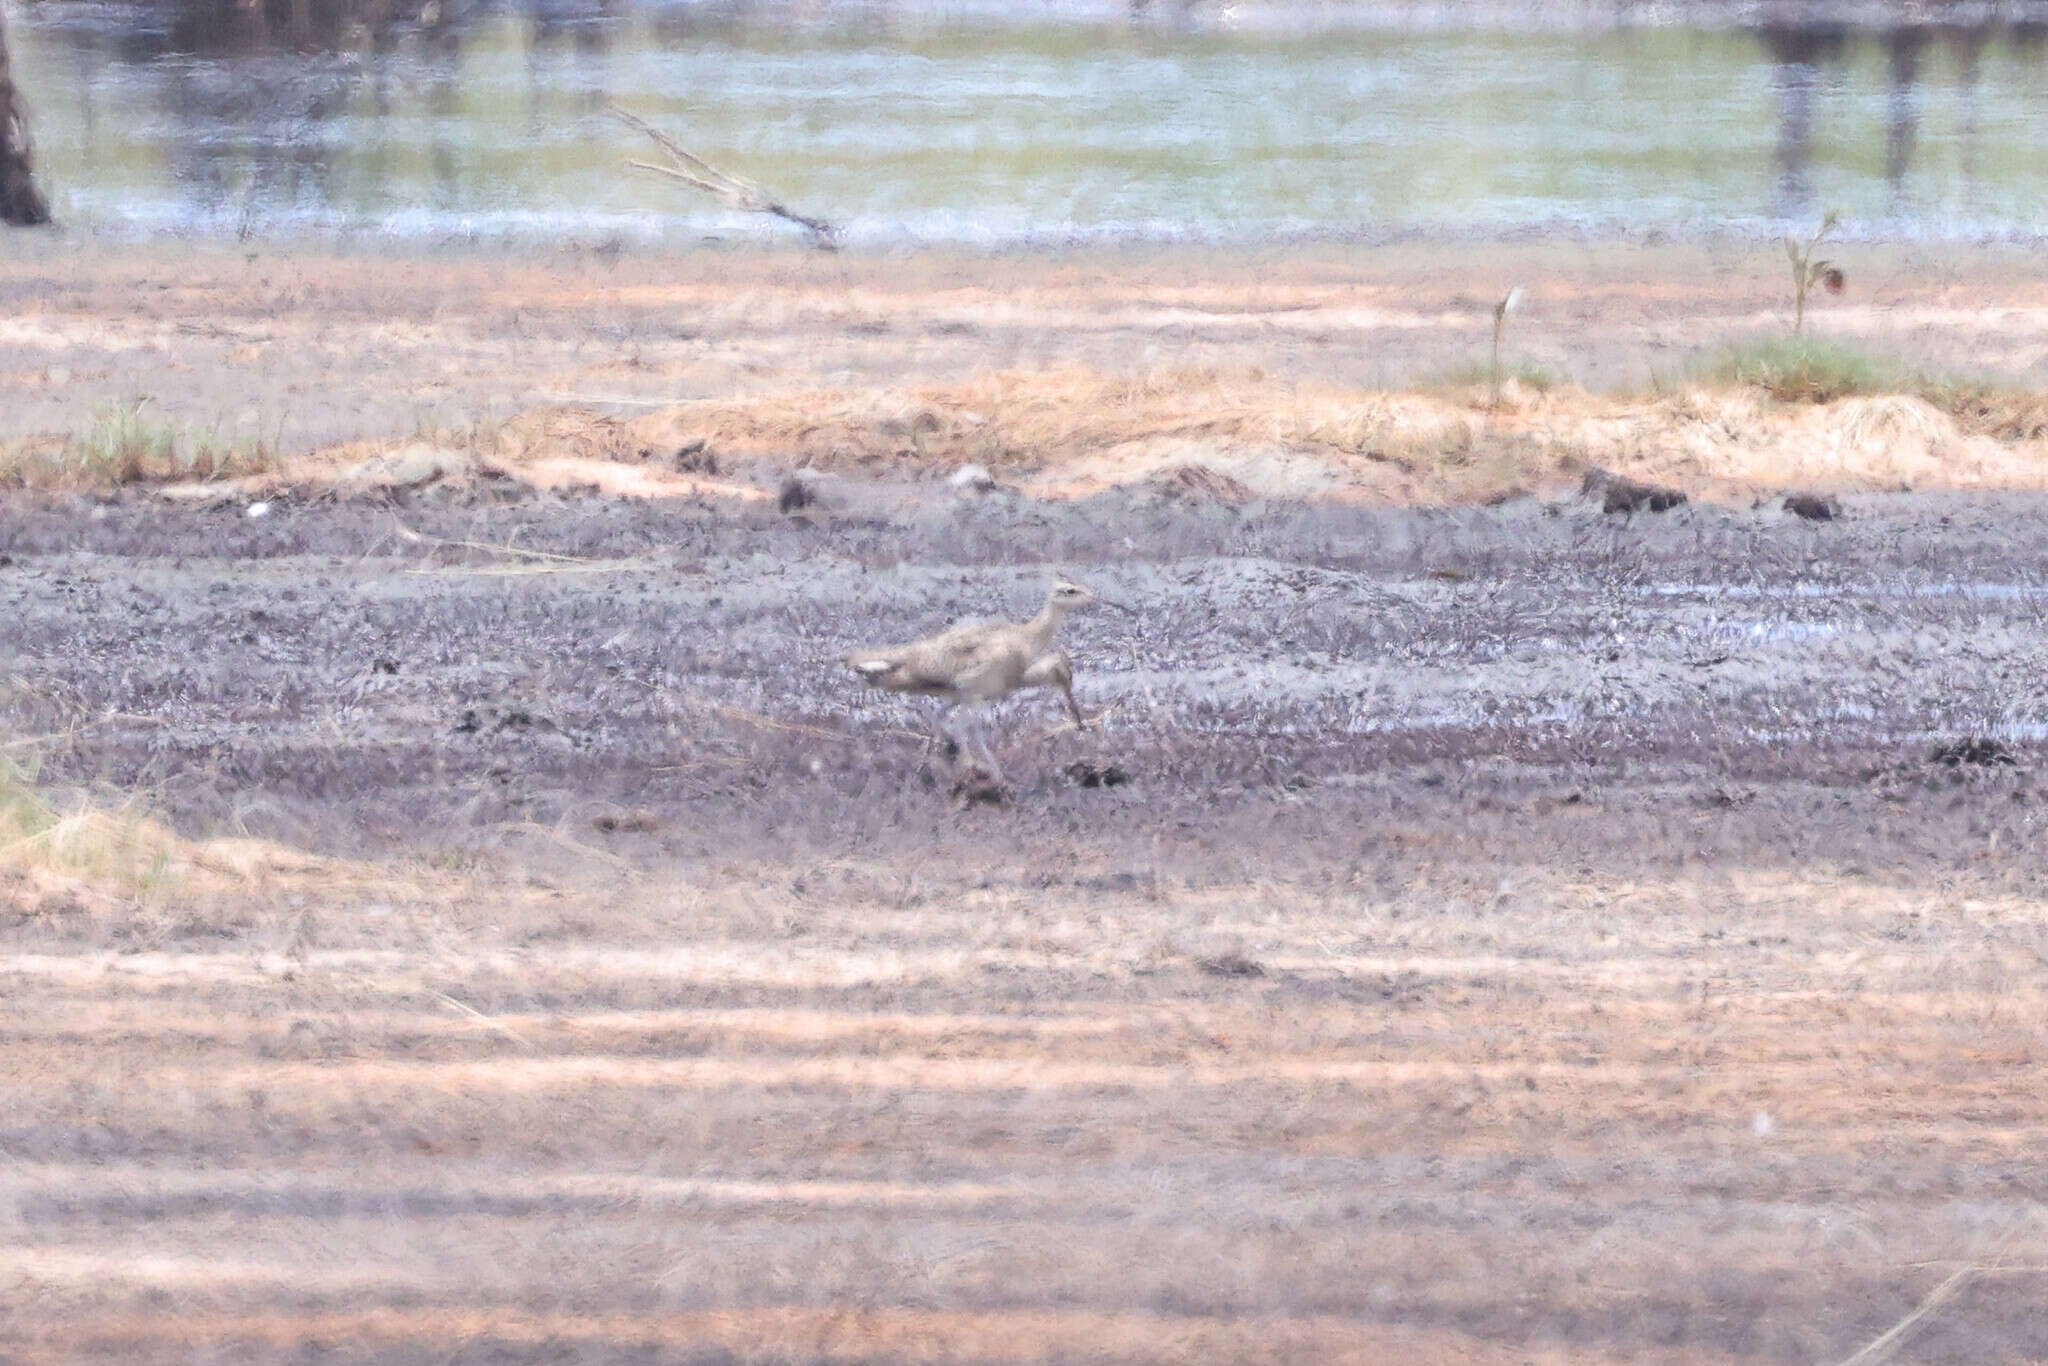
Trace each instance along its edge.
<path fill-rule="evenodd" d="M 1044 610 L 1030 621 L 971 621 L 909 645 L 852 649 L 842 661 L 885 692 L 936 696 L 954 709 L 987 707 L 1026 688 L 1059 688 L 1073 725 L 1085 731 L 1087 717 L 1073 700 L 1073 657 L 1053 641 L 1067 614 L 1087 606 L 1128 610 L 1059 575 L 1047 590 Z M 985 739 L 979 750 L 999 782 L 1001 768 Z"/>

